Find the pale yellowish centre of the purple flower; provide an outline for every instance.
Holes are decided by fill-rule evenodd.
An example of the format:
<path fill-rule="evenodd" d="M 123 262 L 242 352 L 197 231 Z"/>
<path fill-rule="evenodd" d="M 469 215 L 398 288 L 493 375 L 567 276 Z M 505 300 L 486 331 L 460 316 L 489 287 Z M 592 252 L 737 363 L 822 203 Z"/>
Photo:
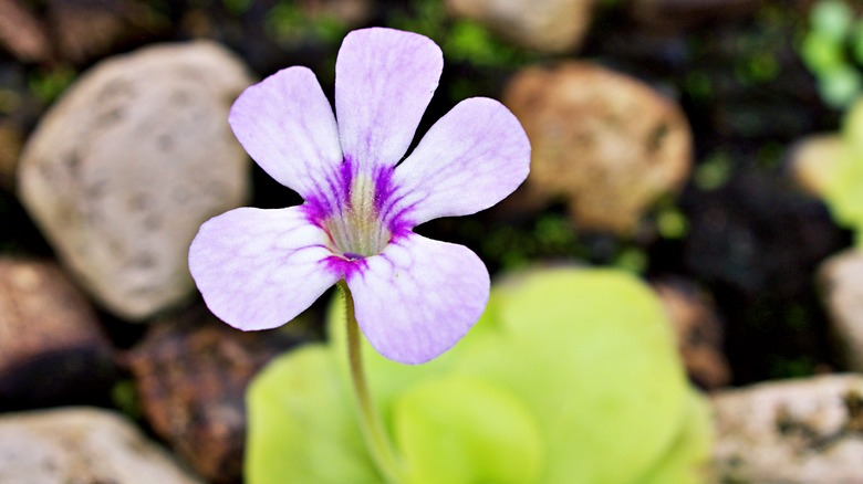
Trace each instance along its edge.
<path fill-rule="evenodd" d="M 391 233 L 375 207 L 375 182 L 368 177 L 353 177 L 349 200 L 341 213 L 324 221 L 333 252 L 356 260 L 377 255 L 389 242 Z"/>

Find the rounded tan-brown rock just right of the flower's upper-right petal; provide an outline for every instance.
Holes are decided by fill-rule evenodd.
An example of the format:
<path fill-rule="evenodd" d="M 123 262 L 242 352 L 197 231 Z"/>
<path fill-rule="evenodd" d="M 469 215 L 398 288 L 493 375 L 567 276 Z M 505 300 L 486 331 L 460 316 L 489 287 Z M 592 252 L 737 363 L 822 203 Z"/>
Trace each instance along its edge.
<path fill-rule="evenodd" d="M 562 199 L 582 228 L 631 234 L 692 168 L 692 133 L 674 102 L 585 62 L 529 67 L 503 103 L 532 146 L 526 203 Z"/>

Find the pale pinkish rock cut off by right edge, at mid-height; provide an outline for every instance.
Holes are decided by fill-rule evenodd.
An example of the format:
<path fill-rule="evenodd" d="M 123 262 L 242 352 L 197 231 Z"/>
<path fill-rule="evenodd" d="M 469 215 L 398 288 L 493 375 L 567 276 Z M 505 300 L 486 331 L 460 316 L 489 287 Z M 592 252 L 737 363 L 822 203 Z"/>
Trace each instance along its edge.
<path fill-rule="evenodd" d="M 863 371 L 863 251 L 831 256 L 818 278 L 836 349 L 849 369 Z"/>

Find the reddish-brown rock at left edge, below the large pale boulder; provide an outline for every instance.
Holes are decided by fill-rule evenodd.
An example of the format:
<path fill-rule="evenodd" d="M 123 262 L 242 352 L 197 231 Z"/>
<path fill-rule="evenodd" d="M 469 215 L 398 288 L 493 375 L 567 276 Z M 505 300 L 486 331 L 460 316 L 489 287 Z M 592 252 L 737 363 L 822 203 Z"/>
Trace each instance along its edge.
<path fill-rule="evenodd" d="M 114 376 L 96 316 L 60 267 L 0 257 L 0 410 L 104 401 Z"/>

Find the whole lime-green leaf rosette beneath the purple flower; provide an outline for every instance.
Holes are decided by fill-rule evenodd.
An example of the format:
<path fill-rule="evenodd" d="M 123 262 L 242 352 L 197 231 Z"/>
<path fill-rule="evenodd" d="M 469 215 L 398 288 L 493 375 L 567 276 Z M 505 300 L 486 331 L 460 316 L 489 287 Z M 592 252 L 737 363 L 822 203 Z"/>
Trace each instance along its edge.
<path fill-rule="evenodd" d="M 329 347 L 280 358 L 252 385 L 250 483 L 379 481 L 356 422 L 341 301 L 329 330 Z M 509 277 L 429 364 L 396 364 L 366 343 L 363 351 L 415 484 L 640 483 L 690 475 L 704 456 L 692 443 L 704 441 L 686 435 L 708 439 L 709 421 L 687 418 L 670 324 L 653 292 L 620 271 Z"/>

